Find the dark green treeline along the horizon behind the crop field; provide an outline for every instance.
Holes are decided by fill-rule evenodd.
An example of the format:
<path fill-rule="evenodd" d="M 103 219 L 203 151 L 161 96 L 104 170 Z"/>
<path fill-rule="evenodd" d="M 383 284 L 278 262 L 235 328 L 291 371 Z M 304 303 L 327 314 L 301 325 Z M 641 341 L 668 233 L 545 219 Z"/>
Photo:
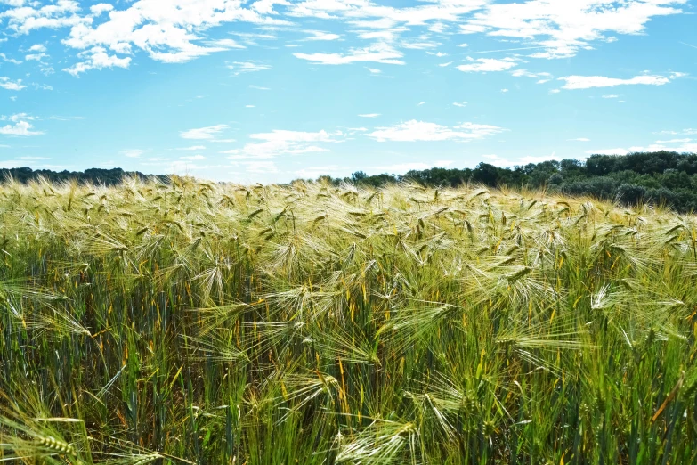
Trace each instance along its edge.
<path fill-rule="evenodd" d="M 39 177 L 51 182 L 76 180 L 80 183 L 119 184 L 125 177 L 150 177 L 121 168 L 86 169 L 84 172 L 29 167 L 0 169 L 3 179 L 11 176 L 20 183 Z M 158 175 L 163 182 L 169 177 Z M 565 195 L 588 195 L 601 200 L 617 200 L 626 205 L 664 204 L 678 211 L 697 211 L 697 154 L 675 151 L 636 152 L 628 155 L 592 155 L 585 161 L 550 160 L 513 168 L 480 163 L 474 168 L 440 168 L 412 170 L 404 175 L 384 173 L 366 175 L 362 171 L 350 177 L 320 176 L 318 181 L 343 182 L 379 187 L 387 183 L 415 182 L 430 187 L 457 187 L 461 184 L 484 184 L 490 187 L 547 189 Z"/>

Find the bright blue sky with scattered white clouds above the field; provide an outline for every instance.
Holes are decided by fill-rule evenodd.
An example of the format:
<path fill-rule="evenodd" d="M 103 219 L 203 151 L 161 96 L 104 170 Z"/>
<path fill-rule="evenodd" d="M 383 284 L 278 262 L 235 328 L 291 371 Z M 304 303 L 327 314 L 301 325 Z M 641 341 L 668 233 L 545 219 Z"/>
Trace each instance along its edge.
<path fill-rule="evenodd" d="M 697 0 L 0 0 L 0 167 L 215 181 L 697 152 Z"/>

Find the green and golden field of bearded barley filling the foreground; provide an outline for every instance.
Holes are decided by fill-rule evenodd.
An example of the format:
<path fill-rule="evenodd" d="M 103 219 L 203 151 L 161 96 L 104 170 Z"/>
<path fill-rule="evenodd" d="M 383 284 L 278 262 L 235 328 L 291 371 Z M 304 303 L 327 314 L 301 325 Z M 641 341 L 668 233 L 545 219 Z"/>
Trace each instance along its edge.
<path fill-rule="evenodd" d="M 0 461 L 693 464 L 697 216 L 0 186 Z"/>

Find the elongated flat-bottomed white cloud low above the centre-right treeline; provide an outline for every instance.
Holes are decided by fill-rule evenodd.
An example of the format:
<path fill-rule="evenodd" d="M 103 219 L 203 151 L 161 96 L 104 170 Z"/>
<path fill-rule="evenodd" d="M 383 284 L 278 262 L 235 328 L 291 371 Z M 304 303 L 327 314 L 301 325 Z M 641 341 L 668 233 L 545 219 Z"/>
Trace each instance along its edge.
<path fill-rule="evenodd" d="M 498 126 L 462 123 L 458 126 L 442 126 L 412 119 L 389 127 L 377 127 L 369 136 L 378 142 L 415 142 L 415 141 L 471 141 L 482 139 L 487 135 L 498 134 L 505 129 Z"/>

